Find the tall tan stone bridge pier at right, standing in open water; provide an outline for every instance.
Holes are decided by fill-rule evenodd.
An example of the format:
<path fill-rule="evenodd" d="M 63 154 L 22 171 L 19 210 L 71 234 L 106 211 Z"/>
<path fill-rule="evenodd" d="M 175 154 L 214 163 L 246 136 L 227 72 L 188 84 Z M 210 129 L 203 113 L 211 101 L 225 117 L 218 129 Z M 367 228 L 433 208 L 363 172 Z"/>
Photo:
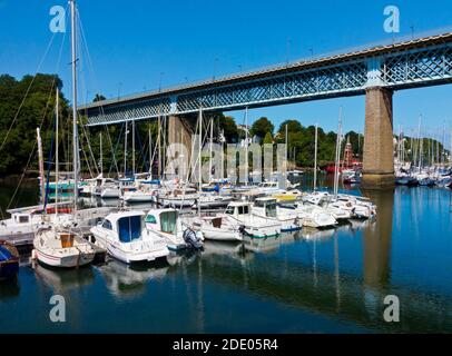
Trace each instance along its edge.
<path fill-rule="evenodd" d="M 394 186 L 392 90 L 366 90 L 362 187 L 386 189 Z"/>

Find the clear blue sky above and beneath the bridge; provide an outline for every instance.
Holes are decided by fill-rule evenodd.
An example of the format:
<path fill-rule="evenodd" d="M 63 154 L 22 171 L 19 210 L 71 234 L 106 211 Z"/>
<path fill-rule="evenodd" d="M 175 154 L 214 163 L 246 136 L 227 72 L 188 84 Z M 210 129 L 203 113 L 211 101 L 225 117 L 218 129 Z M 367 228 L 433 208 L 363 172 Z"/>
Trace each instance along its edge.
<path fill-rule="evenodd" d="M 0 0 L 0 73 L 57 72 L 70 98 L 70 31 L 49 30 L 53 6 L 67 1 Z M 386 6 L 400 9 L 395 37 L 383 29 Z M 78 8 L 80 102 L 97 92 L 116 98 L 452 29 L 450 0 L 78 0 Z M 431 135 L 452 128 L 451 95 L 451 85 L 395 92 L 394 129 L 411 134 L 420 115 Z M 344 129 L 363 132 L 363 96 L 253 109 L 249 122 L 266 116 L 276 127 L 298 119 L 336 130 L 340 106 Z M 243 122 L 243 111 L 230 115 Z"/>

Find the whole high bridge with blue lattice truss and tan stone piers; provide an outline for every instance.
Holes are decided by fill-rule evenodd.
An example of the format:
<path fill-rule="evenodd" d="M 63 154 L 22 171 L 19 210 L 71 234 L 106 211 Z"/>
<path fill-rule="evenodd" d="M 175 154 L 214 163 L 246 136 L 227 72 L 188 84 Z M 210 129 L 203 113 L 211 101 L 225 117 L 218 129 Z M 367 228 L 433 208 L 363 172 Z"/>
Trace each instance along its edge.
<path fill-rule="evenodd" d="M 365 95 L 363 186 L 394 185 L 395 90 L 452 82 L 452 32 L 149 91 L 79 108 L 88 126 L 168 117 L 168 141 L 204 112 Z M 188 137 L 186 132 L 185 142 Z"/>

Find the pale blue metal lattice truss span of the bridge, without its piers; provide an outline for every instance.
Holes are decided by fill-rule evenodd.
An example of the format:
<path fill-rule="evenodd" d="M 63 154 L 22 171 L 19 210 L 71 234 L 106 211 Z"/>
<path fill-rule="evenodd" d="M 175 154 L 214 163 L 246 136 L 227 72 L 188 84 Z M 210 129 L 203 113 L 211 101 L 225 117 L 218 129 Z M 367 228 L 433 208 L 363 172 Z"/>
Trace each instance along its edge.
<path fill-rule="evenodd" d="M 88 126 L 452 82 L 452 32 L 79 107 Z"/>

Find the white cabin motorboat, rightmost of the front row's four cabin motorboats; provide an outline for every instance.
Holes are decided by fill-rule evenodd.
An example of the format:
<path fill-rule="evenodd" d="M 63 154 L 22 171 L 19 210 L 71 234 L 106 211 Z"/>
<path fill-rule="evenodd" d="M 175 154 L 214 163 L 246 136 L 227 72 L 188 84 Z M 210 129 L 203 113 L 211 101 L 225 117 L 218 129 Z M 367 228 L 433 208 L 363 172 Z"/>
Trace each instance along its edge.
<path fill-rule="evenodd" d="M 281 231 L 296 231 L 303 227 L 302 219 L 294 210 L 282 209 L 275 198 L 257 198 L 254 200 L 252 212 L 259 217 L 281 224 Z"/>

